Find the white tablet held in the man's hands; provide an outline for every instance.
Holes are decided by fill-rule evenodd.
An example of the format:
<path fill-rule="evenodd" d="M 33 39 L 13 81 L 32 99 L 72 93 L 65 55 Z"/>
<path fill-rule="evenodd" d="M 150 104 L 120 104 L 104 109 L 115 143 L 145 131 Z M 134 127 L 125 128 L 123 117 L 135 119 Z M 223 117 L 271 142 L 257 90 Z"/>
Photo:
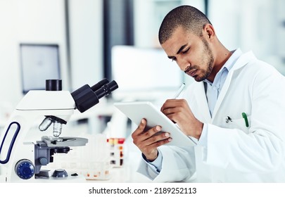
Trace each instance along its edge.
<path fill-rule="evenodd" d="M 132 122 L 139 125 L 141 119 L 147 120 L 147 127 L 160 125 L 162 132 L 169 132 L 172 138 L 170 143 L 165 145 L 172 146 L 195 146 L 196 142 L 186 136 L 166 115 L 164 115 L 153 103 L 149 101 L 132 101 L 114 103 L 122 113 L 127 115 Z"/>

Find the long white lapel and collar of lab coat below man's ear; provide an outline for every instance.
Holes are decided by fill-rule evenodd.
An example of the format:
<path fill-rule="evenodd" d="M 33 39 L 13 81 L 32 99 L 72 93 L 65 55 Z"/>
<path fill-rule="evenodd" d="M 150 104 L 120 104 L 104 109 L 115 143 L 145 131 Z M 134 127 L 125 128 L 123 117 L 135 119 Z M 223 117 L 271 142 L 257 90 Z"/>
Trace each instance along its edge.
<path fill-rule="evenodd" d="M 227 75 L 227 79 L 224 82 L 224 86 L 222 87 L 222 91 L 220 92 L 219 97 L 217 98 L 217 102 L 215 104 L 213 116 L 212 116 L 212 121 L 215 120 L 215 116 L 217 115 L 217 111 L 220 109 L 220 106 L 222 104 L 222 101 L 224 99 L 224 96 L 227 93 L 227 90 L 229 89 L 229 84 L 232 81 L 232 76 L 234 75 L 234 72 L 238 70 L 239 68 L 243 67 L 248 63 L 249 60 L 253 60 L 255 56 L 253 55 L 252 52 L 244 53 L 241 55 L 238 61 L 234 64 L 233 68 L 229 70 L 229 74 Z"/>

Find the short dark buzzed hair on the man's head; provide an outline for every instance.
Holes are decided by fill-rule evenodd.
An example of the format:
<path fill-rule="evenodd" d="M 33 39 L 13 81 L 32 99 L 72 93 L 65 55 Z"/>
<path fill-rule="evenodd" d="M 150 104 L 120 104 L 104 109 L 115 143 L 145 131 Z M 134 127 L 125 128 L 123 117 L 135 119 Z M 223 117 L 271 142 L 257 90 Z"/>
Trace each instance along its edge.
<path fill-rule="evenodd" d="M 163 44 L 170 39 L 177 27 L 183 27 L 198 36 L 201 36 L 204 25 L 211 24 L 207 16 L 192 6 L 178 6 L 172 9 L 160 25 L 158 39 Z"/>

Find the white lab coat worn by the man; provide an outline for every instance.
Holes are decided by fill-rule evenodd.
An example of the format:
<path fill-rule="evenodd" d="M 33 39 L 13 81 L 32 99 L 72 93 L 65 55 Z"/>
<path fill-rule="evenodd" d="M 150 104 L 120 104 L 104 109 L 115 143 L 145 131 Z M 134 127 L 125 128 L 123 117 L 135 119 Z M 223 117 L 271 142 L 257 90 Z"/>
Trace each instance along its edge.
<path fill-rule="evenodd" d="M 241 55 L 213 117 L 203 82 L 191 84 L 185 99 L 196 118 L 208 124 L 207 145 L 160 146 L 160 173 L 144 160 L 138 172 L 153 182 L 285 182 L 285 80 L 271 65 L 252 52 Z M 241 113 L 248 115 L 249 127 Z"/>

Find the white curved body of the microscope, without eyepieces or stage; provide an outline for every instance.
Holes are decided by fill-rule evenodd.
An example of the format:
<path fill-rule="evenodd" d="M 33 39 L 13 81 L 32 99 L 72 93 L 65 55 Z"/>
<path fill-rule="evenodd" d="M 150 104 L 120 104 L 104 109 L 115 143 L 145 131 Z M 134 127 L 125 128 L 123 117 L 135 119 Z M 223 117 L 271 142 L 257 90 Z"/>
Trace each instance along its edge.
<path fill-rule="evenodd" d="M 27 177 L 22 179 L 15 172 L 17 164 L 20 165 L 21 161 L 25 165 L 27 165 L 27 161 L 33 165 L 37 163 L 34 159 L 34 146 L 37 146 L 37 141 L 33 141 L 36 138 L 31 135 L 42 134 L 42 132 L 36 131 L 36 127 L 46 115 L 53 115 L 68 122 L 74 110 L 75 102 L 69 91 L 29 91 L 18 103 L 8 124 L 1 132 L 2 140 L 6 134 L 5 140 L 2 142 L 1 160 L 9 158 L 7 163 L 0 164 L 2 178 L 0 182 L 34 182 L 34 174 L 37 172 L 34 172 L 29 179 Z M 8 132 L 6 133 L 6 131 Z M 15 135 L 17 136 L 14 137 Z M 13 148 L 9 151 L 11 144 L 13 144 Z M 32 171 L 35 170 L 36 167 Z M 23 173 L 26 173 L 25 176 L 30 176 L 27 174 L 28 172 Z"/>

